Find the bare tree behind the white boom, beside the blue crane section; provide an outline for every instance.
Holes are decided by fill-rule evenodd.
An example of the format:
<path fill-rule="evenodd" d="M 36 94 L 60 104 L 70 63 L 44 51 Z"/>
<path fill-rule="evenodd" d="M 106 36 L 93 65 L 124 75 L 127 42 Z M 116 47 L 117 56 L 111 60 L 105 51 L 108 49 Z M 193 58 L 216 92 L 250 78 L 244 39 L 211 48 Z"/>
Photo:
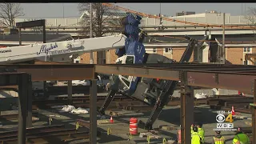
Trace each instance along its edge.
<path fill-rule="evenodd" d="M 90 34 L 90 3 L 80 3 L 78 4 L 79 12 L 85 13 L 89 16 L 83 18 L 80 22 L 83 26 L 80 30 L 81 34 Z M 102 37 L 104 34 L 111 34 L 121 30 L 121 17 L 110 15 L 108 13 L 115 12 L 113 8 L 108 6 L 103 6 L 102 3 L 92 3 L 93 10 L 93 35 L 94 37 Z"/>

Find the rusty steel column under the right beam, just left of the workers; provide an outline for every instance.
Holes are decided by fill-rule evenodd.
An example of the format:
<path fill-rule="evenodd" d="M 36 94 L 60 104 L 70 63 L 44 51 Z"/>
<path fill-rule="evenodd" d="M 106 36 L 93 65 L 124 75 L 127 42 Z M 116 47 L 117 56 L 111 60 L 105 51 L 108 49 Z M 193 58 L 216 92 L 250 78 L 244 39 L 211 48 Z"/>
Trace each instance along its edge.
<path fill-rule="evenodd" d="M 194 89 L 187 86 L 186 71 L 181 72 L 181 132 L 182 144 L 191 143 L 190 126 L 194 122 Z"/>

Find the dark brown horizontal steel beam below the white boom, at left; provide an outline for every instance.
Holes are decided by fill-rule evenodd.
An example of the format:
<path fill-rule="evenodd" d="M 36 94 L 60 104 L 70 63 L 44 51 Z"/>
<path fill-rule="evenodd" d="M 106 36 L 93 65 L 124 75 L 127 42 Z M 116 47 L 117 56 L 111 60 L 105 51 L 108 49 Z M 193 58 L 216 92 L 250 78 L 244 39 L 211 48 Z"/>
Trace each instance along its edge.
<path fill-rule="evenodd" d="M 31 74 L 32 81 L 66 81 L 94 78 L 94 65 L 52 64 L 52 65 L 0 65 L 11 66 L 18 72 Z"/>

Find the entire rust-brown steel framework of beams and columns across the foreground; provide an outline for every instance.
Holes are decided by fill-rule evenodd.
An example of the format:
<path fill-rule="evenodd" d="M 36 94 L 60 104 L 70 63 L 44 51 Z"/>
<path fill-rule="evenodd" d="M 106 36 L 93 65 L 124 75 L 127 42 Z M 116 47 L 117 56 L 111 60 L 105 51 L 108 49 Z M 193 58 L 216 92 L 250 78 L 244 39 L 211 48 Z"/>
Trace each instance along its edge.
<path fill-rule="evenodd" d="M 181 125 L 182 125 L 182 143 L 190 143 L 190 125 L 194 117 L 194 86 L 222 88 L 228 90 L 239 90 L 246 94 L 254 94 L 254 104 L 256 104 L 256 66 L 243 65 L 218 65 L 218 64 L 195 64 L 195 63 L 177 63 L 177 64 L 147 64 L 147 65 L 86 65 L 86 64 L 52 64 L 52 65 L 0 65 L 0 67 L 16 70 L 31 75 L 31 81 L 46 80 L 73 80 L 73 79 L 94 79 L 96 73 L 102 74 L 122 74 L 146 78 L 162 78 L 174 81 L 181 81 Z M 2 73 L 4 74 L 4 73 Z M 25 77 L 25 76 L 24 76 Z M 4 75 L 1 79 L 8 84 L 9 77 Z M 91 87 L 90 93 L 90 142 L 96 141 L 96 86 L 95 82 Z M 18 83 L 11 83 L 17 85 Z M 24 85 L 23 85 L 24 86 Z M 27 87 L 27 85 L 25 86 Z M 25 90 L 26 89 L 26 90 Z M 26 91 L 19 89 L 19 96 L 26 95 Z M 26 101 L 27 102 L 27 101 Z M 31 106 L 31 103 L 24 102 L 25 106 Z M 21 107 L 22 107 L 21 102 Z M 24 106 L 24 105 L 23 105 Z M 253 115 L 253 143 L 256 143 L 256 110 L 252 107 Z M 24 112 L 24 111 L 23 111 Z M 23 114 L 23 113 L 21 113 Z M 24 120 L 24 117 L 21 119 Z M 26 119 L 25 119 L 26 120 Z M 20 122 L 20 121 L 19 121 Z M 24 121 L 22 121 L 24 122 Z M 26 124 L 25 124 L 26 125 Z M 22 125 L 24 126 L 24 124 Z M 26 127 L 26 126 L 25 126 Z M 24 127 L 23 127 L 24 129 Z M 21 128 L 19 138 L 23 138 L 24 132 Z M 26 129 L 25 129 L 26 130 Z M 23 132 L 23 133 L 22 133 Z M 96 134 L 95 134 L 96 133 Z M 23 144 L 24 140 L 19 141 Z"/>

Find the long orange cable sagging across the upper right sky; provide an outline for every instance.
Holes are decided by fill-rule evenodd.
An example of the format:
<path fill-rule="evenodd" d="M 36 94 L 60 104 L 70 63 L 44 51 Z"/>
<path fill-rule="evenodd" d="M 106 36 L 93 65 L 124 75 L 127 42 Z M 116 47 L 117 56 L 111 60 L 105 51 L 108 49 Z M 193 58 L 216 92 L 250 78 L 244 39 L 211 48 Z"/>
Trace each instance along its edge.
<path fill-rule="evenodd" d="M 141 15 L 143 17 L 148 17 L 148 18 L 157 18 L 160 19 L 162 18 L 163 20 L 166 21 L 172 21 L 172 22 L 178 22 L 178 23 L 185 23 L 185 24 L 190 24 L 190 25 L 194 25 L 194 26 L 205 26 L 205 27 L 225 27 L 225 28 L 230 28 L 230 29 L 252 29 L 252 28 L 256 28 L 256 26 L 223 26 L 223 25 L 214 25 L 214 24 L 205 24 L 205 23 L 198 23 L 198 22 L 187 22 L 187 21 L 181 21 L 181 20 L 175 20 L 174 18 L 165 18 L 165 17 L 159 17 L 159 16 L 154 16 L 152 14 L 146 14 L 146 13 L 141 13 L 135 10 L 130 10 L 130 9 L 126 9 L 122 6 L 116 6 L 110 3 L 102 3 L 103 6 L 108 6 L 108 7 L 112 7 L 113 9 L 118 9 L 118 10 L 123 10 L 132 14 L 138 14 Z"/>

